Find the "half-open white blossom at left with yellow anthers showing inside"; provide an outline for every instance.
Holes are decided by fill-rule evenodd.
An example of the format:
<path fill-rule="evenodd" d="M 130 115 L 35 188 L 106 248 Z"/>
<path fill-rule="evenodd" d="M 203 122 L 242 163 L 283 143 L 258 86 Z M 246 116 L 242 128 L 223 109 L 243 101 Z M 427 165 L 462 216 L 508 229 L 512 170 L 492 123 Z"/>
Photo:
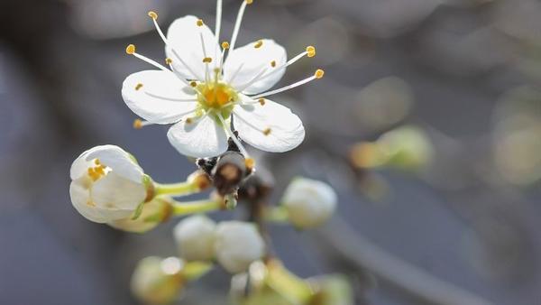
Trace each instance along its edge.
<path fill-rule="evenodd" d="M 142 168 L 115 145 L 96 146 L 71 164 L 71 203 L 97 223 L 130 217 L 147 197 Z"/>

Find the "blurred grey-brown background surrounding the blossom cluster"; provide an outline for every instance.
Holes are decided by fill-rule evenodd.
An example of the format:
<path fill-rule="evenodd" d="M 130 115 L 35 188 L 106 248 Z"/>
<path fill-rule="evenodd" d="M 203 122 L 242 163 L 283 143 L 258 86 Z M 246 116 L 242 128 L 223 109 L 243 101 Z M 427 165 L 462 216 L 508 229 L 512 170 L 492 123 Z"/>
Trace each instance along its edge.
<path fill-rule="evenodd" d="M 239 5 L 225 0 L 224 37 Z M 69 201 L 69 166 L 96 144 L 132 152 L 154 180 L 195 169 L 166 126 L 134 130 L 120 95 L 151 69 L 128 43 L 164 58 L 150 9 L 164 29 L 185 14 L 214 24 L 213 0 L 0 3 L 1 304 L 133 304 L 134 264 L 176 253 L 176 221 L 123 233 Z M 274 98 L 302 117 L 305 143 L 254 152 L 275 199 L 298 174 L 339 193 L 321 230 L 271 227 L 290 270 L 346 273 L 356 304 L 541 304 L 541 1 L 255 0 L 239 37 L 289 56 L 316 46 L 282 85 L 326 69 Z M 215 271 L 180 303 L 225 304 L 228 285 Z"/>

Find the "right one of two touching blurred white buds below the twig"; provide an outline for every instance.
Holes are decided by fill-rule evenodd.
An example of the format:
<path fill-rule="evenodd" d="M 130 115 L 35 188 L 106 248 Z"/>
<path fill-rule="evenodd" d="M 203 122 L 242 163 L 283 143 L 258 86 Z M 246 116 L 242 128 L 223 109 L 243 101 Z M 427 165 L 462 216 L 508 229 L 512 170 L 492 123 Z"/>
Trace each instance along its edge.
<path fill-rule="evenodd" d="M 252 223 L 221 222 L 215 238 L 216 259 L 230 273 L 246 271 L 265 251 L 263 238 Z"/>

